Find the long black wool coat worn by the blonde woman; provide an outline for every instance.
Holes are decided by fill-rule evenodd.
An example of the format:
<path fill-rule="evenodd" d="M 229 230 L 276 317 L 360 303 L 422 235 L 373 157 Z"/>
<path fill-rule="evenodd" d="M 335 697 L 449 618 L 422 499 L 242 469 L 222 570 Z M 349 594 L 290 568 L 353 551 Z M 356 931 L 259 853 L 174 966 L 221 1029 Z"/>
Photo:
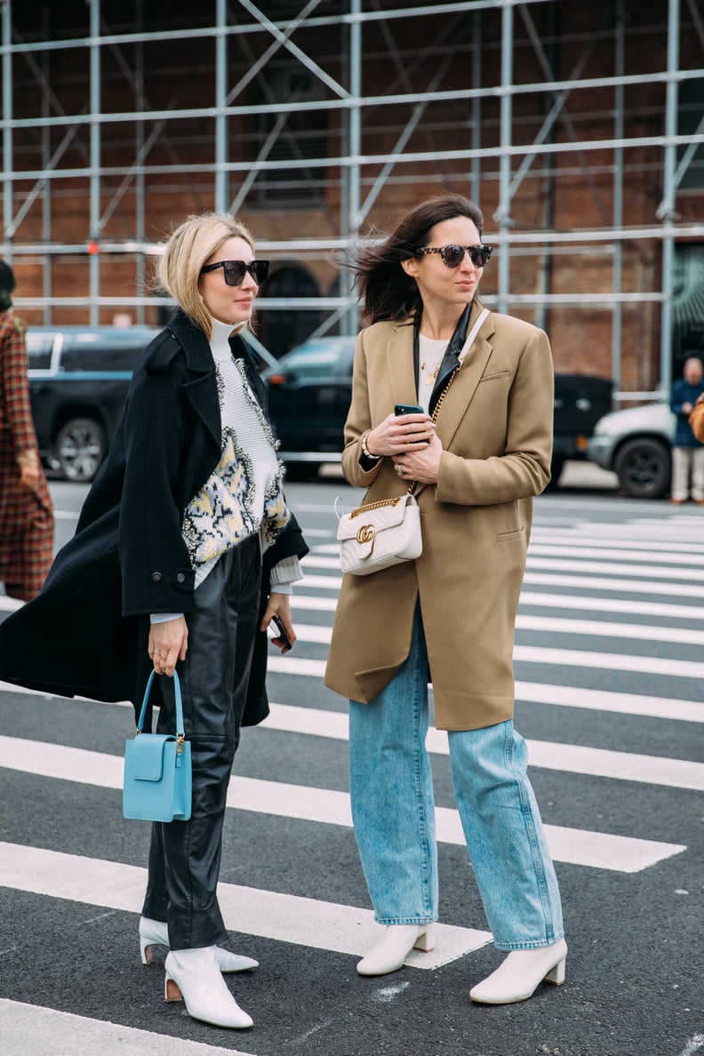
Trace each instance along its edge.
<path fill-rule="evenodd" d="M 244 358 L 266 413 L 251 353 L 239 337 L 230 346 Z M 66 697 L 131 700 L 138 714 L 152 668 L 149 614 L 194 607 L 180 529 L 187 504 L 220 460 L 221 432 L 208 340 L 178 312 L 134 372 L 76 534 L 56 555 L 41 592 L 0 624 L 0 679 Z M 264 553 L 262 612 L 273 565 L 307 552 L 291 516 Z M 244 725 L 268 714 L 267 650 L 266 633 L 259 631 Z"/>

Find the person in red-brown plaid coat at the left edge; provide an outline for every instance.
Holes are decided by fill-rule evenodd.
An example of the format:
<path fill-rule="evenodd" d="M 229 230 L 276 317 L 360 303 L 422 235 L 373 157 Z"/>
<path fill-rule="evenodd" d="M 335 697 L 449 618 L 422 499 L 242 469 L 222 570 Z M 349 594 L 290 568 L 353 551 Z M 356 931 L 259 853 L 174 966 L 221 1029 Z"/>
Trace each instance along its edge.
<path fill-rule="evenodd" d="M 0 261 L 0 581 L 12 598 L 30 601 L 52 563 L 54 510 L 39 461 L 14 288 L 13 270 Z"/>

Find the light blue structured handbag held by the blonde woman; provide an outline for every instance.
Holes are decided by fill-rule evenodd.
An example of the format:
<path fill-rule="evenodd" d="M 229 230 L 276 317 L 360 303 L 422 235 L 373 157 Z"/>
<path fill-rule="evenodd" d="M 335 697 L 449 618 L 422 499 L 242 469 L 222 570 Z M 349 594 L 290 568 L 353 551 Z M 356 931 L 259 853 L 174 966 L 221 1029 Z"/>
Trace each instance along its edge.
<path fill-rule="evenodd" d="M 191 746 L 184 735 L 184 706 L 178 675 L 173 673 L 176 732 L 142 733 L 147 701 L 154 680 L 149 676 L 136 735 L 125 746 L 122 813 L 147 822 L 188 822 L 191 816 Z"/>

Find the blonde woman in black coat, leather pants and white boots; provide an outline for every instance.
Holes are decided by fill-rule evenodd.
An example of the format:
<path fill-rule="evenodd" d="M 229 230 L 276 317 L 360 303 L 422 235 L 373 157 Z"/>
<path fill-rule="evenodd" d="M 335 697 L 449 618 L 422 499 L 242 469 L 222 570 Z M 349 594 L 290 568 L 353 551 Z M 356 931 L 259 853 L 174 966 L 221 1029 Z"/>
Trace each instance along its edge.
<path fill-rule="evenodd" d="M 274 615 L 296 641 L 288 595 L 307 552 L 264 386 L 239 336 L 267 270 L 228 214 L 191 216 L 173 232 L 158 278 L 180 310 L 134 373 L 76 535 L 39 597 L 0 625 L 0 678 L 22 685 L 128 698 L 136 713 L 153 670 L 158 732 L 174 729 L 178 671 L 192 814 L 153 825 L 141 955 L 148 963 L 153 944 L 170 946 L 167 1000 L 183 995 L 191 1016 L 230 1027 L 252 1020 L 221 973 L 256 962 L 220 945 L 227 786 L 241 725 L 268 712 Z"/>

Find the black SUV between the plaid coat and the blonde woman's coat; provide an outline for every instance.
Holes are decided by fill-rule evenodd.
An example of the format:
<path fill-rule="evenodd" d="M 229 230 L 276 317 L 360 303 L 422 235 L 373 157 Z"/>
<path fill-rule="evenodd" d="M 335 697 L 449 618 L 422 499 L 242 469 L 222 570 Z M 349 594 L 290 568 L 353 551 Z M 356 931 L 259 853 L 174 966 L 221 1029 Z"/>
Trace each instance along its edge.
<path fill-rule="evenodd" d="M 32 414 L 44 465 L 92 480 L 115 431 L 151 326 L 28 326 Z"/>

